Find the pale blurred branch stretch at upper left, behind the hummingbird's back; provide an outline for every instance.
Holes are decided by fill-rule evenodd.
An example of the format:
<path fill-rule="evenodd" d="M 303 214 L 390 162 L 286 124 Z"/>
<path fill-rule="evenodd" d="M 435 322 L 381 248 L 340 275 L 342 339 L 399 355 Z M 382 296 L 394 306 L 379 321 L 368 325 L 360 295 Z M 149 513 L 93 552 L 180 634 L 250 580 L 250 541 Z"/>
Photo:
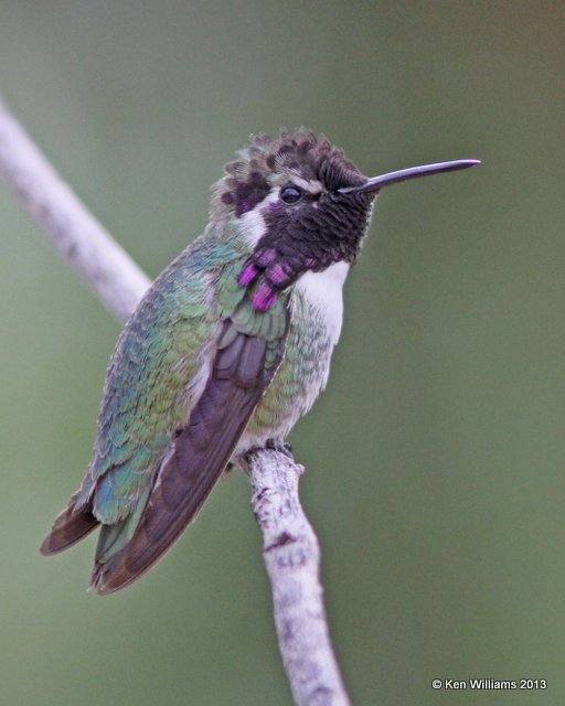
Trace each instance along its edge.
<path fill-rule="evenodd" d="M 126 321 L 150 280 L 61 181 L 1 99 L 0 178 L 106 307 Z"/>

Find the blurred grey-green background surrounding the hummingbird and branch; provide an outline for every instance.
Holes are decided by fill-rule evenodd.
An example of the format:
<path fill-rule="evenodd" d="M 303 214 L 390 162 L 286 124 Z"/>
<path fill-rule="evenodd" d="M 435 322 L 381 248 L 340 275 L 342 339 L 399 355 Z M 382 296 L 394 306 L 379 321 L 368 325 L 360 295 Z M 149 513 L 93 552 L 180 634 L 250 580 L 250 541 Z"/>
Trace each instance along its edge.
<path fill-rule="evenodd" d="M 152 277 L 250 132 L 483 160 L 382 195 L 291 437 L 354 704 L 565 702 L 564 34 L 562 2 L 0 2 L 0 90 Z M 0 703 L 289 704 L 243 474 L 128 591 L 86 593 L 94 538 L 40 557 L 119 327 L 4 189 L 0 228 Z"/>

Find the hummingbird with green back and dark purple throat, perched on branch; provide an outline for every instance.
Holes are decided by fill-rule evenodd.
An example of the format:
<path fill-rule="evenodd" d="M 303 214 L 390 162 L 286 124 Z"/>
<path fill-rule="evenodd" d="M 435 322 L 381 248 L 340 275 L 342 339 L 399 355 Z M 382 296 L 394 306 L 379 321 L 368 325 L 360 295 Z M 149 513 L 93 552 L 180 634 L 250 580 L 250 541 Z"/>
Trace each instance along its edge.
<path fill-rule="evenodd" d="M 126 323 L 88 471 L 42 554 L 99 525 L 92 588 L 110 593 L 150 569 L 222 474 L 284 445 L 326 387 L 342 287 L 381 189 L 478 163 L 366 178 L 303 128 L 253 138 L 213 185 L 204 233 Z"/>

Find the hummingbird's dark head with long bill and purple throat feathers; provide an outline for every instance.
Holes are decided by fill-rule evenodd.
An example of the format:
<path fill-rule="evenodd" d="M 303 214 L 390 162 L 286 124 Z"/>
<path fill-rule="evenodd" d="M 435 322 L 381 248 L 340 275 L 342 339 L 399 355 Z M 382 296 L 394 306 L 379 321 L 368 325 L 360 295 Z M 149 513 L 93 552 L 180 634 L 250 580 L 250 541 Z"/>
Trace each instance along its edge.
<path fill-rule="evenodd" d="M 471 163 L 477 161 L 367 179 L 323 136 L 305 129 L 278 138 L 259 135 L 226 164 L 213 208 L 227 211 L 253 250 L 238 281 L 253 285 L 255 306 L 267 310 L 306 271 L 355 261 L 383 186 Z"/>

